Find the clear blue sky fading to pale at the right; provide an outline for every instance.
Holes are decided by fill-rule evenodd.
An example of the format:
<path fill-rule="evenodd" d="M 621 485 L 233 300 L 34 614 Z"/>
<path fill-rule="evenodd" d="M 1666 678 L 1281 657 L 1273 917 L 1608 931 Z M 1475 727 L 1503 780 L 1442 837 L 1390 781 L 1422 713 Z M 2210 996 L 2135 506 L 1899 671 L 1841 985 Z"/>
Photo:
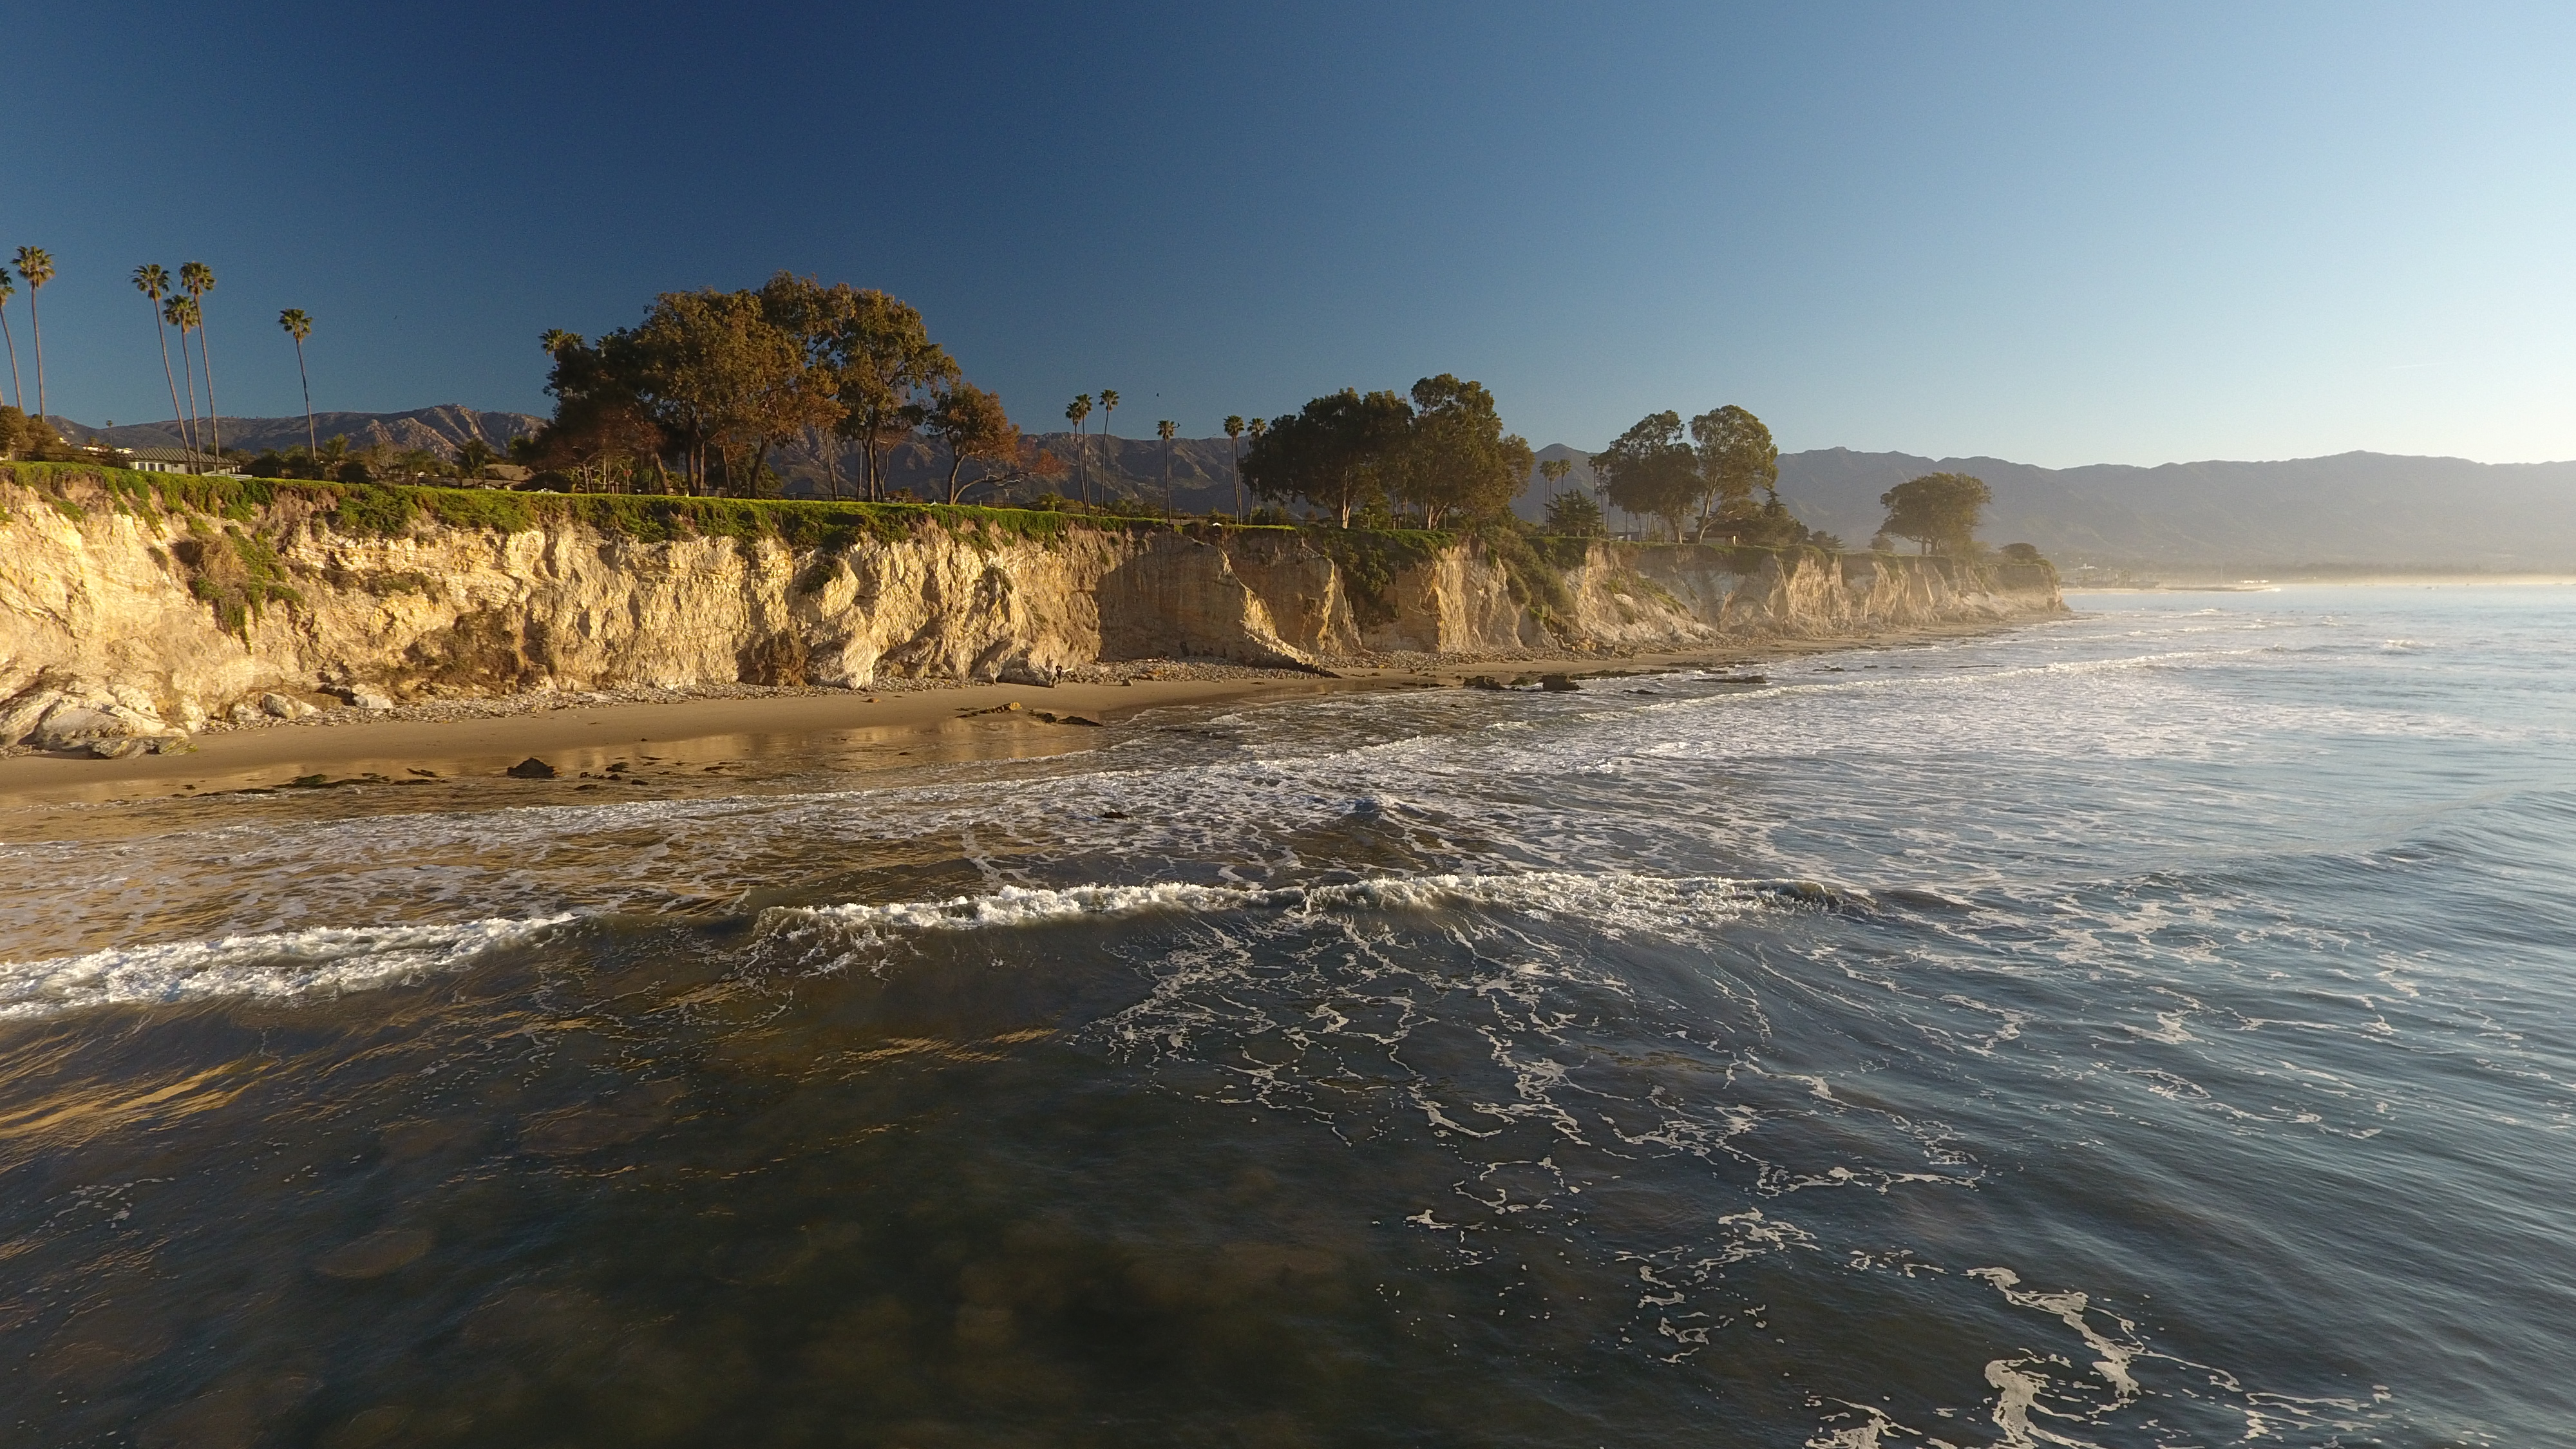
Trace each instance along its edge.
<path fill-rule="evenodd" d="M 2576 5 L 44 5 L 0 253 L 54 413 L 544 413 L 544 327 L 775 268 L 1023 428 L 1484 379 L 1533 443 L 2576 456 Z M 10 302 L 33 392 L 26 291 Z"/>

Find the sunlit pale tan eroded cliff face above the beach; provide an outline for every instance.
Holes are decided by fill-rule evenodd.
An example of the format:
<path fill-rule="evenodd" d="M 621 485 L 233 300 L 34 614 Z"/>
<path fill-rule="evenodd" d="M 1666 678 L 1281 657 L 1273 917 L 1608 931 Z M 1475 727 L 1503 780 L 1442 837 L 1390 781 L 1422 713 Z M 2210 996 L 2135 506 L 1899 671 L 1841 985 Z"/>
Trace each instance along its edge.
<path fill-rule="evenodd" d="M 139 490 L 0 482 L 0 745 L 124 748 L 312 694 L 1043 683 L 1095 660 L 1687 650 L 2061 608 L 2048 578 L 1996 588 L 1924 559 L 1595 544 L 1551 590 L 1473 544 L 1337 562 L 1267 529 L 920 516 L 791 547 L 574 516 L 353 531 L 330 498 L 211 516 Z"/>

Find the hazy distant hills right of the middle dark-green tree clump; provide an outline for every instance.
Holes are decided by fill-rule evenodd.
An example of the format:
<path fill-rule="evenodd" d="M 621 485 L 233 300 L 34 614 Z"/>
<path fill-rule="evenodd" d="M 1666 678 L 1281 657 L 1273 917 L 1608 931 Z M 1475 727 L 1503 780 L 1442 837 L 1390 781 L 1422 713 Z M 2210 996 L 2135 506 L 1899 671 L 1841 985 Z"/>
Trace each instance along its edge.
<path fill-rule="evenodd" d="M 1540 459 L 1587 456 L 1561 443 Z M 2092 464 L 2045 469 L 2004 459 L 1927 459 L 1814 449 L 1780 456 L 1780 500 L 1811 529 L 1860 547 L 1878 531 L 1878 495 L 1927 472 L 1965 472 L 1994 490 L 1984 534 L 2030 541 L 2058 562 L 2099 565 L 2388 565 L 2576 570 L 2576 462 L 2478 464 L 2391 454 L 2287 462 Z M 1543 505 L 1533 480 L 1520 511 Z"/>

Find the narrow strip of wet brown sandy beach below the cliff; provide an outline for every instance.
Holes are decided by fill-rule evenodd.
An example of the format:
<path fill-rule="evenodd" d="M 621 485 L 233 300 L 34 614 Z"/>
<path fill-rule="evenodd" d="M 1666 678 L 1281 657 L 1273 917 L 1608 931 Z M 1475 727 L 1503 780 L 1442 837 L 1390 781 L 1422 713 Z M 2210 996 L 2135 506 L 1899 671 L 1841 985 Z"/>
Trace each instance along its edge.
<path fill-rule="evenodd" d="M 1842 650 L 2002 634 L 2040 621 L 2045 619 L 1981 619 L 1855 637 L 1747 639 L 1649 655 L 1453 655 L 1437 660 L 1399 655 L 1383 663 L 1352 660 L 1350 668 L 1332 676 L 1206 670 L 1188 660 L 1131 660 L 1123 665 L 1133 665 L 1136 673 L 1110 683 L 889 681 L 886 688 L 724 694 L 670 701 L 500 696 L 453 701 L 456 714 L 443 719 L 384 719 L 361 709 L 332 709 L 314 719 L 209 730 L 191 737 L 188 750 L 162 755 L 111 761 L 49 753 L 8 755 L 0 758 L 0 802 L 209 799 L 299 784 L 407 784 L 415 779 L 492 779 L 510 786 L 577 779 L 618 784 L 611 766 L 639 758 L 644 748 L 654 750 L 657 763 L 675 755 L 685 755 L 690 763 L 706 761 L 703 771 L 757 755 L 811 758 L 817 753 L 845 755 L 853 768 L 902 768 L 899 758 L 922 753 L 943 761 L 1033 758 L 1097 748 L 1105 737 L 1115 737 L 1103 735 L 1100 727 L 1151 709 L 1388 688 L 1458 688 L 1473 676 L 1569 673 L 1579 681 L 1685 668 L 1723 670 Z M 1170 678 L 1170 673 L 1190 670 L 1203 673 Z M 479 712 L 474 706 L 500 709 Z M 507 776 L 510 766 L 531 758 L 544 761 L 556 773 L 536 781 Z"/>

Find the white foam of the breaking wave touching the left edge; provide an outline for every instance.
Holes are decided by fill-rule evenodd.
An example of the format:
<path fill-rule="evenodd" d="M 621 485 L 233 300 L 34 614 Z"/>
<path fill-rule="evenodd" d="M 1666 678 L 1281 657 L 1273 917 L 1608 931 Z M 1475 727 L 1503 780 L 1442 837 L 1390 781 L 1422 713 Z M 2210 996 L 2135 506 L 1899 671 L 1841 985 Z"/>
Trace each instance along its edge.
<path fill-rule="evenodd" d="M 36 1018 L 95 1006 L 162 1006 L 211 998 L 289 1000 L 451 972 L 474 957 L 528 941 L 572 915 L 466 920 L 461 926 L 319 926 L 216 941 L 111 946 L 85 957 L 0 964 L 0 1018 Z"/>

